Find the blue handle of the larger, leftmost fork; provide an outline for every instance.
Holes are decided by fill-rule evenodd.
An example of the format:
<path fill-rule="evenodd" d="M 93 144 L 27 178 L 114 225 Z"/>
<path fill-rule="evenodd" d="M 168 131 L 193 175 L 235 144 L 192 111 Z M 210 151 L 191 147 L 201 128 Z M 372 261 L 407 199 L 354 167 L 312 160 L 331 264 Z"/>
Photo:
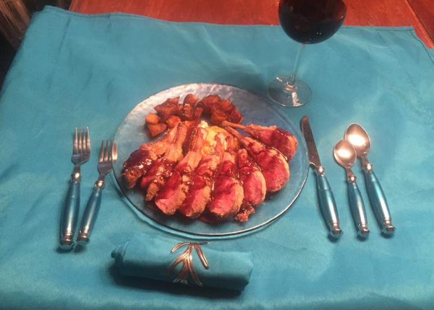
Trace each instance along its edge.
<path fill-rule="evenodd" d="M 74 246 L 74 232 L 80 210 L 80 182 L 72 180 L 60 220 L 60 248 L 69 250 Z"/>

